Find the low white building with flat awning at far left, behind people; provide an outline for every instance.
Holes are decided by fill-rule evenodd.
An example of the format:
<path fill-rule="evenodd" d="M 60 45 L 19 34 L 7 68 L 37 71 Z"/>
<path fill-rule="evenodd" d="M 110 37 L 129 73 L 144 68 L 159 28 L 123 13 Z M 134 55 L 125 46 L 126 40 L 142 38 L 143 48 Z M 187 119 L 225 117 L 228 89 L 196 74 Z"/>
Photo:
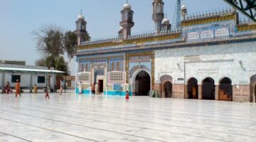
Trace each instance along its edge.
<path fill-rule="evenodd" d="M 0 61 L 0 87 L 3 90 L 6 82 L 10 82 L 11 87 L 15 87 L 16 80 L 21 82 L 23 89 L 30 89 L 32 91 L 33 85 L 36 84 L 38 88 L 48 86 L 47 80 L 50 76 L 50 89 L 53 89 L 56 84 L 57 70 L 48 67 L 26 65 L 23 61 Z"/>

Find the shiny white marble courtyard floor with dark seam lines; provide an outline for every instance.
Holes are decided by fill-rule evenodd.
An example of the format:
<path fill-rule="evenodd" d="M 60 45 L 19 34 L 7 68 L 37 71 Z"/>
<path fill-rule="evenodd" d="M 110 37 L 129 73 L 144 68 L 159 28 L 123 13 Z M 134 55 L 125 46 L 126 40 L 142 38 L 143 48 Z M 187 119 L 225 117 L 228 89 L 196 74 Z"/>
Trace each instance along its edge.
<path fill-rule="evenodd" d="M 256 141 L 256 104 L 0 94 L 0 141 Z"/>

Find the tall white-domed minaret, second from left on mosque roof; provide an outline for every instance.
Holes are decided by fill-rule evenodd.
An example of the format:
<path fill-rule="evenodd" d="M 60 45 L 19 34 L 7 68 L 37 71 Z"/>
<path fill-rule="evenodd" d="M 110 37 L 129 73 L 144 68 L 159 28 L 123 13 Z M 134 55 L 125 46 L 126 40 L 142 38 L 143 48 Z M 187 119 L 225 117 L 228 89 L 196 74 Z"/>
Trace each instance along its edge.
<path fill-rule="evenodd" d="M 131 28 L 134 26 L 132 6 L 128 3 L 124 4 L 124 9 L 121 11 L 122 21 L 120 21 L 120 26 L 122 29 L 123 38 L 128 38 L 131 35 Z"/>

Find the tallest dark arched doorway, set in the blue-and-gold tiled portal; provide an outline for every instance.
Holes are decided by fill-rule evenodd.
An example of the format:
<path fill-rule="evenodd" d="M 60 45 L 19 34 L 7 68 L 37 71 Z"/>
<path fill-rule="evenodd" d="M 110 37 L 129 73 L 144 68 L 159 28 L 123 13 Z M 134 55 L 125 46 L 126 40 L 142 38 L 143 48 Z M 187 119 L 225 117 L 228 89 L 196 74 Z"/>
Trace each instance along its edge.
<path fill-rule="evenodd" d="M 150 76 L 144 70 L 140 71 L 135 77 L 135 95 L 149 96 Z"/>

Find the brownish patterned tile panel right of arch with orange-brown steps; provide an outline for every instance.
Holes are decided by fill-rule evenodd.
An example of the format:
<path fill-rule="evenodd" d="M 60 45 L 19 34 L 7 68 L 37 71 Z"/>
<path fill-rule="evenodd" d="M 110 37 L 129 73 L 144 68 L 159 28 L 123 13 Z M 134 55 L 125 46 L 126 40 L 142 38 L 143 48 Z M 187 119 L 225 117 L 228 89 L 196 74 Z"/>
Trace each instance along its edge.
<path fill-rule="evenodd" d="M 233 101 L 250 102 L 250 85 L 234 85 Z"/>

